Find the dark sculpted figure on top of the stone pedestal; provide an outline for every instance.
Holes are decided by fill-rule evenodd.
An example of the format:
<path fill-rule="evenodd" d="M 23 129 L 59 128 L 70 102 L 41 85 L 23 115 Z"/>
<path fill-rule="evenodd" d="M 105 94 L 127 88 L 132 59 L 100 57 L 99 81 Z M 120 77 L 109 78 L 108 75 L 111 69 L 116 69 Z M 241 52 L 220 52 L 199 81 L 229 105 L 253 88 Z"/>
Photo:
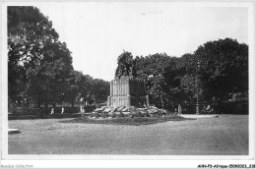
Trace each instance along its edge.
<path fill-rule="evenodd" d="M 124 51 L 120 56 L 117 58 L 117 68 L 115 70 L 115 77 L 134 77 L 135 71 L 135 60 L 133 60 L 133 56 L 130 52 Z"/>

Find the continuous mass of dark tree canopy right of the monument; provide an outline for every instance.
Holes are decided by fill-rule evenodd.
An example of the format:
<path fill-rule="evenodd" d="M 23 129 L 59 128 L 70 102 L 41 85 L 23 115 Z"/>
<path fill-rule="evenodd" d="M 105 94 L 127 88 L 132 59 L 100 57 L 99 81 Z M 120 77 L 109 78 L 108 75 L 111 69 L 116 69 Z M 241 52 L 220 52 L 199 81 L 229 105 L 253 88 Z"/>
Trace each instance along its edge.
<path fill-rule="evenodd" d="M 179 58 L 165 53 L 137 56 L 136 72 L 160 107 L 195 102 L 196 78 L 201 101 L 224 100 L 230 93 L 248 91 L 248 45 L 225 38 Z"/>

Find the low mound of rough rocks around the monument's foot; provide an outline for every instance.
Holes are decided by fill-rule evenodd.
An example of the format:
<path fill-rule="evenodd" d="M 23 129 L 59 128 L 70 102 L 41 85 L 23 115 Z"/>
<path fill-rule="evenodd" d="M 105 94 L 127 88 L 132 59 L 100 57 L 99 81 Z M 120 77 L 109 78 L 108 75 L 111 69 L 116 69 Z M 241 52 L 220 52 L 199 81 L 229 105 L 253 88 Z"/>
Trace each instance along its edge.
<path fill-rule="evenodd" d="M 101 107 L 97 108 L 92 113 L 85 113 L 82 116 L 95 118 L 115 118 L 115 117 L 160 117 L 167 114 L 166 110 L 159 109 L 155 106 L 146 108 L 138 108 L 135 106 L 118 106 L 118 107 Z"/>

